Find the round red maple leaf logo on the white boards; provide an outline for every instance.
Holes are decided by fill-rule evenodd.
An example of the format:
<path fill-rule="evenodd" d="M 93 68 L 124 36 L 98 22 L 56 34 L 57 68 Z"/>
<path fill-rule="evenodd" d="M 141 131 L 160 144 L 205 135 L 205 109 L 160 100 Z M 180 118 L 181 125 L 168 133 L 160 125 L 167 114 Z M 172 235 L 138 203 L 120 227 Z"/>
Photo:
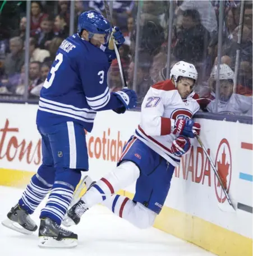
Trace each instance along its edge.
<path fill-rule="evenodd" d="M 215 164 L 219 176 L 223 182 L 224 188 L 229 191 L 231 184 L 231 176 L 232 176 L 232 156 L 229 143 L 226 139 L 222 139 L 220 141 L 219 147 L 217 149 L 217 154 L 215 158 Z M 222 186 L 218 181 L 217 177 L 214 174 L 214 188 L 215 194 L 219 203 L 224 203 L 226 200 L 226 195 L 222 190 Z"/>

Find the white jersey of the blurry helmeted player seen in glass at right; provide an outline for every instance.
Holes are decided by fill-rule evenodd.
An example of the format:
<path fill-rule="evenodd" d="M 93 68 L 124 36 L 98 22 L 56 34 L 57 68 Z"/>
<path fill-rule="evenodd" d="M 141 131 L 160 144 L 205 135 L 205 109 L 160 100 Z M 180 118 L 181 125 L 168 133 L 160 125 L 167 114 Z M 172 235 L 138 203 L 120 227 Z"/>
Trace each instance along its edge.
<path fill-rule="evenodd" d="M 217 99 L 211 101 L 206 109 L 211 113 L 215 113 L 216 102 Z M 218 113 L 222 112 L 232 112 L 236 115 L 252 115 L 252 97 L 233 93 L 227 102 L 218 101 Z"/>

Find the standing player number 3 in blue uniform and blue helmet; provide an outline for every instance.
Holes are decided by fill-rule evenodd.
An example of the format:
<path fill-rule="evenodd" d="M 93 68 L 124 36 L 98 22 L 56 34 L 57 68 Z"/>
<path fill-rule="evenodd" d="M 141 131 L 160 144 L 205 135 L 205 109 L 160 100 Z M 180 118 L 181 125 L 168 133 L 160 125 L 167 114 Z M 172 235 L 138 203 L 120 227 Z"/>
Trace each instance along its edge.
<path fill-rule="evenodd" d="M 81 13 L 77 34 L 60 45 L 40 93 L 36 125 L 42 136 L 42 165 L 2 223 L 25 234 L 34 232 L 37 226 L 29 214 L 50 191 L 40 213 L 41 247 L 77 245 L 77 235 L 60 225 L 81 171 L 89 169 L 84 129 L 92 130 L 97 111 L 123 113 L 136 106 L 133 90 L 109 92 L 107 72 L 116 58 L 112 40 L 117 47 L 125 41 L 119 28 L 111 28 L 96 11 Z"/>

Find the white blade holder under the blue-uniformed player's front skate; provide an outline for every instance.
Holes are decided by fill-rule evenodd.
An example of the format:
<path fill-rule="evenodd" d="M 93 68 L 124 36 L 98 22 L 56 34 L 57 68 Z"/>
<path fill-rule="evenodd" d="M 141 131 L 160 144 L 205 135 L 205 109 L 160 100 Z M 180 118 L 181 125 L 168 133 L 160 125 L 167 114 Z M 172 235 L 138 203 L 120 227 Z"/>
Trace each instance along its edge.
<path fill-rule="evenodd" d="M 54 237 L 40 236 L 40 248 L 74 248 L 77 246 L 77 239 L 62 239 L 57 241 Z"/>

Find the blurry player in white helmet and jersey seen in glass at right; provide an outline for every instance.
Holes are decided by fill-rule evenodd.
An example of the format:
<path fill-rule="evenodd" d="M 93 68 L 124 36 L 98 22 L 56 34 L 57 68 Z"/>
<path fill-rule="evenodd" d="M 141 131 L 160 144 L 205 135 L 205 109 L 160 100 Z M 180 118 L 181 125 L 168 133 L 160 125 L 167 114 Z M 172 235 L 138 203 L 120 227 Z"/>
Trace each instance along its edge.
<path fill-rule="evenodd" d="M 214 89 L 217 79 L 220 81 L 218 113 L 252 116 L 252 97 L 233 93 L 234 72 L 227 64 L 220 65 L 219 78 L 218 66 L 214 66 L 211 72 L 211 79 L 213 79 Z M 214 99 L 208 104 L 206 109 L 214 113 L 216 111 L 216 104 L 217 99 Z"/>

